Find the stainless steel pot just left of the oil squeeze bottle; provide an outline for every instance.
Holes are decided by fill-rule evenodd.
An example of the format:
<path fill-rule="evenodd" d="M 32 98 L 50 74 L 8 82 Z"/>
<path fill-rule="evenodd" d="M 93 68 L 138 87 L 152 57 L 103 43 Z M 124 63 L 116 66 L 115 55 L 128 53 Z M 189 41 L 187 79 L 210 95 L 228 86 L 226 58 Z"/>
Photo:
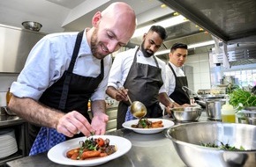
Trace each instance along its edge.
<path fill-rule="evenodd" d="M 206 101 L 206 113 L 209 120 L 222 120 L 222 105 L 225 99 L 215 99 Z"/>

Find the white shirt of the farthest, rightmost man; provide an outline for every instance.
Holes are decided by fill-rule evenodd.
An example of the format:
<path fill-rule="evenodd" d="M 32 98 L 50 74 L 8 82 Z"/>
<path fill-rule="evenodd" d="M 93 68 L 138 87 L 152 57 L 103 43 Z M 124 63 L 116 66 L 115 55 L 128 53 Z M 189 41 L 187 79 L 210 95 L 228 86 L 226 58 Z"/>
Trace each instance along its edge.
<path fill-rule="evenodd" d="M 176 72 L 176 76 L 184 76 L 184 71 L 181 68 L 176 67 L 171 62 L 169 62 L 169 64 Z M 165 69 L 166 69 L 165 86 L 166 86 L 166 91 L 167 91 L 168 96 L 175 90 L 175 87 L 176 87 L 176 79 L 175 79 L 175 76 L 174 76 L 172 70 L 169 68 L 169 64 L 167 64 L 165 66 Z"/>

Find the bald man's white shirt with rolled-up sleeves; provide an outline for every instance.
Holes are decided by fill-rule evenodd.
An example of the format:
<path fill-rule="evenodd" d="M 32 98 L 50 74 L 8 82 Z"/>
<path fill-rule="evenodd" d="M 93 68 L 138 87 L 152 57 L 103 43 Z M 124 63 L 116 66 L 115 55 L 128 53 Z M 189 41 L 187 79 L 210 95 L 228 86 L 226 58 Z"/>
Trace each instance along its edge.
<path fill-rule="evenodd" d="M 83 35 L 73 73 L 96 77 L 101 73 L 101 60 L 93 56 L 86 34 Z M 77 35 L 78 33 L 52 33 L 38 41 L 29 53 L 18 80 L 11 84 L 11 93 L 19 98 L 38 100 L 41 94 L 68 69 Z M 105 99 L 111 63 L 111 56 L 106 56 L 104 78 L 92 95 L 92 101 Z"/>

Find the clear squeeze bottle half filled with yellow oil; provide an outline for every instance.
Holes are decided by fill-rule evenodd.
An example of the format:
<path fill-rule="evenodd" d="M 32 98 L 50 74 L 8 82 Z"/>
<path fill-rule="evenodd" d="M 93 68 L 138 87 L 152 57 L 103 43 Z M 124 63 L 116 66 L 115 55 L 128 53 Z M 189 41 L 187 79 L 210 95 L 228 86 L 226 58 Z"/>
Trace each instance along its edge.
<path fill-rule="evenodd" d="M 236 123 L 236 110 L 233 105 L 230 105 L 229 99 L 226 99 L 226 104 L 222 105 L 222 122 Z"/>

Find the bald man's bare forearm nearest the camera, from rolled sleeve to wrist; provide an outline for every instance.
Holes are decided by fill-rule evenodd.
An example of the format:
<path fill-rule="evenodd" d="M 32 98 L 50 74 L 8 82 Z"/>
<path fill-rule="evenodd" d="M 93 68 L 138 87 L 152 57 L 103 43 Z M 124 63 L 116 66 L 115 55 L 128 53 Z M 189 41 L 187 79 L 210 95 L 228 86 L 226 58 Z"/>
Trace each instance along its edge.
<path fill-rule="evenodd" d="M 58 120 L 64 115 L 59 111 L 40 105 L 32 98 L 11 97 L 11 112 L 34 124 L 45 127 L 56 127 Z"/>

